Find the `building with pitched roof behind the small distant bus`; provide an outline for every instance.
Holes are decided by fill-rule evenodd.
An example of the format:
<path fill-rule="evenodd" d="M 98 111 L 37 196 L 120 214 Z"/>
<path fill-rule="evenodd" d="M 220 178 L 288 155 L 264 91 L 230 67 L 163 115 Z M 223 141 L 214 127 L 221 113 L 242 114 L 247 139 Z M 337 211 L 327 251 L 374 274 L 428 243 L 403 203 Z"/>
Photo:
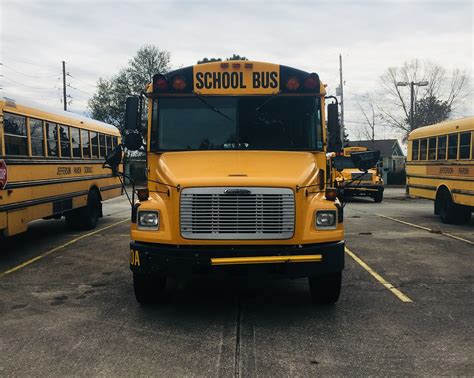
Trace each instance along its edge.
<path fill-rule="evenodd" d="M 380 151 L 383 162 L 383 179 L 387 184 L 405 183 L 406 156 L 397 139 L 359 140 L 350 141 L 351 147 L 367 147 L 369 150 Z"/>

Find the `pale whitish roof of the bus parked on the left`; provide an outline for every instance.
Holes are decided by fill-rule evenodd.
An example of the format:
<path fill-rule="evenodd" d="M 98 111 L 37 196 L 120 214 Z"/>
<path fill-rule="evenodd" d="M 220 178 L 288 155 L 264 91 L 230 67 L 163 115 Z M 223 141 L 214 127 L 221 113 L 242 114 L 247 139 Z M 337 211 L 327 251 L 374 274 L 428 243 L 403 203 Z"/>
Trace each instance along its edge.
<path fill-rule="evenodd" d="M 96 121 L 92 118 L 87 118 L 76 113 L 39 105 L 30 100 L 12 98 L 3 93 L 0 97 L 0 108 L 2 111 L 120 136 L 119 130 L 108 123 Z"/>

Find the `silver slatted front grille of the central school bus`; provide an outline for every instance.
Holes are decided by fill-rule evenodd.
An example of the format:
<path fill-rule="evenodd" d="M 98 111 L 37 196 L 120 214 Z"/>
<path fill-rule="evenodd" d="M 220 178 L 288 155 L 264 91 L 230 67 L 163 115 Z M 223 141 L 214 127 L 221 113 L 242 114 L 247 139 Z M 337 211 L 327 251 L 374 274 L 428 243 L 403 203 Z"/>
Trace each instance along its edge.
<path fill-rule="evenodd" d="M 295 199 L 284 188 L 189 188 L 181 192 L 180 217 L 187 239 L 289 239 Z"/>

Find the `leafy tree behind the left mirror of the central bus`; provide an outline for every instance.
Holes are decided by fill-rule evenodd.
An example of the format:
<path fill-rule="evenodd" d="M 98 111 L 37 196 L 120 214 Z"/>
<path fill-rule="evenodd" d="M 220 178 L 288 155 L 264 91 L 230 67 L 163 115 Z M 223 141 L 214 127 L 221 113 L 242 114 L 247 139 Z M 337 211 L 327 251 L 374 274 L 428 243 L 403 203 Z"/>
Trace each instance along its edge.
<path fill-rule="evenodd" d="M 111 79 L 100 78 L 97 90 L 89 99 L 91 117 L 123 130 L 125 102 L 128 96 L 140 95 L 156 73 L 171 69 L 170 53 L 153 45 L 141 47 L 136 55 Z M 146 107 L 142 118 L 146 120 Z M 146 125 L 146 122 L 143 123 Z"/>

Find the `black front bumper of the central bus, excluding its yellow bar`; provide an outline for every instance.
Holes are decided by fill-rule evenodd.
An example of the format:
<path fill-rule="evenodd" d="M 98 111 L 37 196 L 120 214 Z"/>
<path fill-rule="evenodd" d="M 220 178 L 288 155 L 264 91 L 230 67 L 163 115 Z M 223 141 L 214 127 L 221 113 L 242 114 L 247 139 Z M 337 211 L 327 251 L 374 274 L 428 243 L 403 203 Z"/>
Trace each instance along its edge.
<path fill-rule="evenodd" d="M 321 262 L 212 266 L 212 257 L 322 255 Z M 344 269 L 344 241 L 305 245 L 175 246 L 130 243 L 130 270 L 140 274 L 207 274 L 214 271 L 255 271 L 306 277 Z M 137 259 L 138 257 L 138 259 Z"/>

